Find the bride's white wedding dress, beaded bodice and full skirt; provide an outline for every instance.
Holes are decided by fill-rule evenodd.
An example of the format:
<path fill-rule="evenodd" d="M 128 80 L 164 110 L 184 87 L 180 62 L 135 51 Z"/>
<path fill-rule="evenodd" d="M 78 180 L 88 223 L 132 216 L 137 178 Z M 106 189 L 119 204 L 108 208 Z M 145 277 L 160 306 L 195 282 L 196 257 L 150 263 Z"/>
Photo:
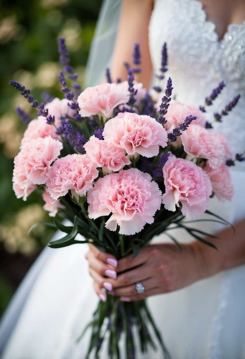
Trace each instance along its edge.
<path fill-rule="evenodd" d="M 205 97 L 224 80 L 226 88 L 208 108 L 212 114 L 241 94 L 230 115 L 214 127 L 227 137 L 234 154 L 244 152 L 245 22 L 231 24 L 219 41 L 199 1 L 156 0 L 149 25 L 156 71 L 164 42 L 168 47 L 167 76 L 172 78 L 179 101 L 203 105 Z M 232 167 L 231 176 L 233 200 L 211 199 L 210 209 L 235 223 L 245 218 L 244 163 Z M 205 223 L 205 229 L 217 232 L 221 226 Z M 180 242 L 193 240 L 181 231 L 175 236 Z M 167 238 L 163 235 L 156 241 Z M 87 246 L 79 244 L 45 248 L 3 318 L 3 359 L 84 358 L 89 333 L 78 344 L 75 339 L 91 320 L 98 302 L 84 259 L 86 252 Z M 245 359 L 245 265 L 151 297 L 148 304 L 173 359 Z M 103 348 L 102 353 L 102 359 L 108 358 Z M 158 359 L 162 354 L 151 351 L 138 358 Z"/>

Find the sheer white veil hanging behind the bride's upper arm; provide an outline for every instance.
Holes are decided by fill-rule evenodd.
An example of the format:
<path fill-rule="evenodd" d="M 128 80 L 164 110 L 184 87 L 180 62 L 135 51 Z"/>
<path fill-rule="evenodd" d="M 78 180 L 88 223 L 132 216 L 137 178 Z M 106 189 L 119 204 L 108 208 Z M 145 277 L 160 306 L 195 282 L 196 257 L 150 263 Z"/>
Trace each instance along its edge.
<path fill-rule="evenodd" d="M 91 44 L 86 86 L 98 85 L 110 66 L 121 12 L 121 0 L 104 0 Z"/>

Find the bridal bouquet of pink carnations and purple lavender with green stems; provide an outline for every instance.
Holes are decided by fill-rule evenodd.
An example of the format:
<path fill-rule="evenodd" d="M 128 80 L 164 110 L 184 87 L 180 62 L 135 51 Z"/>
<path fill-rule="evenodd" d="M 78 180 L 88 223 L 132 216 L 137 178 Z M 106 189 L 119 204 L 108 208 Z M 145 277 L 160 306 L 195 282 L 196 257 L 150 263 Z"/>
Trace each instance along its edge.
<path fill-rule="evenodd" d="M 183 222 L 185 217 L 193 220 L 205 211 L 211 214 L 207 210 L 210 196 L 223 201 L 233 194 L 227 165 L 233 165 L 234 160 L 226 139 L 207 123 L 205 108 L 171 100 L 170 78 L 165 91 L 156 86 L 154 94 L 149 95 L 135 80 L 140 71 L 137 44 L 133 66 L 125 64 L 128 81 L 112 82 L 107 70 L 107 83 L 82 92 L 62 38 L 59 52 L 64 66 L 59 81 L 65 98 L 38 104 L 30 90 L 10 81 L 38 110 L 38 117 L 28 123 L 14 159 L 15 194 L 26 200 L 31 192 L 41 190 L 43 208 L 50 216 L 59 213 L 73 223 L 64 225 L 55 218 L 52 225 L 66 235 L 49 246 L 90 242 L 120 259 L 130 253 L 137 256 L 142 246 L 164 231 L 181 250 L 170 234 L 171 225 L 184 228 L 214 247 L 203 239 L 207 233 Z M 165 44 L 157 75 L 160 83 L 166 66 Z M 213 90 L 206 106 L 223 87 L 221 83 Z M 221 121 L 238 99 L 216 113 L 216 120 Z M 28 119 L 22 109 L 18 108 L 18 113 L 24 121 Z M 237 154 L 236 159 L 243 157 Z M 143 290 L 139 286 L 138 293 Z M 92 335 L 87 358 L 91 353 L 99 356 L 105 336 L 108 357 L 120 357 L 118 342 L 123 337 L 126 358 L 135 358 L 136 332 L 142 352 L 148 345 L 155 347 L 157 339 L 170 357 L 144 294 L 139 298 L 142 300 L 127 303 L 108 294 L 106 302 L 98 304 L 88 324 Z M 152 338 L 149 324 L 156 338 Z"/>

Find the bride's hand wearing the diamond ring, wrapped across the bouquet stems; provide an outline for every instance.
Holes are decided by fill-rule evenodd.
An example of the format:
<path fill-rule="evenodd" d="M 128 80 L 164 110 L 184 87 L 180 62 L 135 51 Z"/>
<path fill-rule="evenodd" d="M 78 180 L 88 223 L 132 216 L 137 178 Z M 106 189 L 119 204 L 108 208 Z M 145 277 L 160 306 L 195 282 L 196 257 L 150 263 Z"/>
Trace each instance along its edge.
<path fill-rule="evenodd" d="M 175 244 L 152 244 L 143 247 L 134 259 L 129 255 L 119 260 L 117 272 L 127 272 L 112 282 L 114 295 L 123 301 L 140 300 L 172 292 L 200 279 L 200 263 L 194 247 L 191 243 L 183 244 L 182 250 L 181 253 Z M 137 293 L 137 282 L 143 284 L 144 293 Z"/>

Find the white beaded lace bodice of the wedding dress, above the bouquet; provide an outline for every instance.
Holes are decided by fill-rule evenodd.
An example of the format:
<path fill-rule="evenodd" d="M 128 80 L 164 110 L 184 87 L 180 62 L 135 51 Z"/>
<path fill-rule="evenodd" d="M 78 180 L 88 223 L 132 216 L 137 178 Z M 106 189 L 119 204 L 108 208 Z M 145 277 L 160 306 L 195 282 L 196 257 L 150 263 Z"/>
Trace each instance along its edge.
<path fill-rule="evenodd" d="M 230 24 L 219 41 L 215 25 L 206 20 L 201 2 L 156 0 L 149 25 L 149 47 L 156 73 L 164 42 L 168 48 L 167 76 L 172 78 L 174 94 L 179 101 L 204 105 L 205 97 L 225 81 L 221 95 L 207 108 L 210 122 L 214 112 L 221 112 L 236 94 L 241 94 L 230 115 L 213 127 L 228 138 L 234 154 L 244 152 L 245 21 L 241 25 Z"/>

